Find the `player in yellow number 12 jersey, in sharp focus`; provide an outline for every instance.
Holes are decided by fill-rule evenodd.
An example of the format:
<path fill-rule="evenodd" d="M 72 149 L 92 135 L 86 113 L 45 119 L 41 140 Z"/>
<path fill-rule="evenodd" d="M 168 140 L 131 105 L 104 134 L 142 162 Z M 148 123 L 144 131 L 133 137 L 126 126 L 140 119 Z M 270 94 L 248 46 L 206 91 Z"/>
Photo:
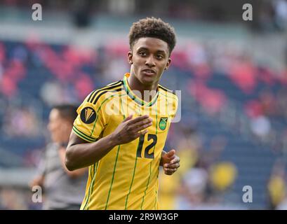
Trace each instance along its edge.
<path fill-rule="evenodd" d="M 81 209 L 159 209 L 159 166 L 180 166 L 163 151 L 178 97 L 159 85 L 171 64 L 173 27 L 161 19 L 133 23 L 130 73 L 91 92 L 79 106 L 66 151 L 67 169 L 89 167 Z"/>

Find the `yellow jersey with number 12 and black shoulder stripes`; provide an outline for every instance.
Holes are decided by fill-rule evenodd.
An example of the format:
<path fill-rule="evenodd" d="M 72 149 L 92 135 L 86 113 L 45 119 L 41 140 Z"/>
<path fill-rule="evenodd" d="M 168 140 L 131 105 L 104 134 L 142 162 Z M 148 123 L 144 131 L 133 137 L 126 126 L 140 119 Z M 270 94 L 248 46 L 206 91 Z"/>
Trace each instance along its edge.
<path fill-rule="evenodd" d="M 159 162 L 178 97 L 158 85 L 149 102 L 138 97 L 123 80 L 91 92 L 77 109 L 73 132 L 88 142 L 105 137 L 133 113 L 149 114 L 147 134 L 112 148 L 89 167 L 86 194 L 81 209 L 159 209 Z"/>

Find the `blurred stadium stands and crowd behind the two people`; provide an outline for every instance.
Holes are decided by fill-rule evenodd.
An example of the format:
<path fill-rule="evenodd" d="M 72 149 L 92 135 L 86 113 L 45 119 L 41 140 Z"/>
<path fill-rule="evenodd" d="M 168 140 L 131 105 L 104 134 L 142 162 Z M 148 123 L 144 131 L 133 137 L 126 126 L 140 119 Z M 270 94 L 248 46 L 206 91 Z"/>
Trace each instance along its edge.
<path fill-rule="evenodd" d="M 51 106 L 121 79 L 129 27 L 147 16 L 178 35 L 161 84 L 182 91 L 166 144 L 181 167 L 159 177 L 161 209 L 287 209 L 286 0 L 0 0 L 0 209 L 41 209 L 28 183 Z"/>

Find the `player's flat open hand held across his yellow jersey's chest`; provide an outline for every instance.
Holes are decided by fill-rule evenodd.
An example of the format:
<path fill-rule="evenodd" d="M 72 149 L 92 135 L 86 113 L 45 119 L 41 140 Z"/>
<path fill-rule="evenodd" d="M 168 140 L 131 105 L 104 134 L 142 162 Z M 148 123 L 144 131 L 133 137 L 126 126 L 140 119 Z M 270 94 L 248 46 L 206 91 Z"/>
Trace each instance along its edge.
<path fill-rule="evenodd" d="M 113 132 L 116 145 L 126 144 L 140 137 L 141 134 L 146 134 L 147 127 L 152 126 L 152 118 L 148 115 L 133 118 L 133 115 L 128 116 Z"/>

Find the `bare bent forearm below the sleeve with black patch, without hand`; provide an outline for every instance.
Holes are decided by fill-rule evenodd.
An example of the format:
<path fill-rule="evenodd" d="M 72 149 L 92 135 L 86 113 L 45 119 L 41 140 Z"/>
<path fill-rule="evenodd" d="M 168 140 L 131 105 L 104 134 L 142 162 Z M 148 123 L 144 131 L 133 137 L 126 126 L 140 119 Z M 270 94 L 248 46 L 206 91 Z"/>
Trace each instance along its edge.
<path fill-rule="evenodd" d="M 118 145 L 112 134 L 96 142 L 86 144 L 69 144 L 66 151 L 65 165 L 69 171 L 88 167 L 98 162 Z"/>

